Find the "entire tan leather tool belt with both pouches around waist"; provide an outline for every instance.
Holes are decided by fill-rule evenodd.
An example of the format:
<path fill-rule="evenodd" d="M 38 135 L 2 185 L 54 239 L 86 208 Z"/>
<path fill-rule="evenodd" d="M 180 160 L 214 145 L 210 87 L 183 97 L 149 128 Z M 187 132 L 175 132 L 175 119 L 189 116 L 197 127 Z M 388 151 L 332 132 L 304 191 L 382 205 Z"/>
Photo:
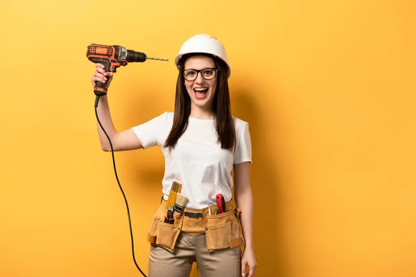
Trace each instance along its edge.
<path fill-rule="evenodd" d="M 177 237 L 180 232 L 184 232 L 189 235 L 205 233 L 208 251 L 245 245 L 241 229 L 241 210 L 235 208 L 232 201 L 225 203 L 225 213 L 217 215 L 216 205 L 202 209 L 184 208 L 182 215 L 173 213 L 172 224 L 164 222 L 167 214 L 165 206 L 166 200 L 162 199 L 148 230 L 147 240 L 150 243 L 173 252 Z"/>

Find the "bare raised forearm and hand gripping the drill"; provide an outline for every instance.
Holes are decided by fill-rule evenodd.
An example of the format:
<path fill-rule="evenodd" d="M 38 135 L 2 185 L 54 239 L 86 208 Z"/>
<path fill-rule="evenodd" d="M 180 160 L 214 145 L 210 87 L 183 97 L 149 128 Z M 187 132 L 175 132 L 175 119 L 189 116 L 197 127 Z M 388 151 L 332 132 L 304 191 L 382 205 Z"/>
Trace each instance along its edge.
<path fill-rule="evenodd" d="M 103 64 L 96 64 L 96 71 L 92 76 L 92 86 L 95 87 L 96 82 L 102 82 L 108 89 L 113 78 L 113 73 L 106 73 Z M 114 151 L 126 151 L 143 148 L 135 132 L 132 129 L 127 129 L 123 132 L 117 132 L 116 127 L 112 122 L 110 115 L 110 107 L 108 105 L 107 96 L 101 96 L 97 107 L 98 119 L 103 125 L 105 132 L 110 137 L 112 147 Z M 108 142 L 107 136 L 105 136 L 103 130 L 97 122 L 98 135 L 100 137 L 101 148 L 103 151 L 111 151 L 110 143 Z"/>

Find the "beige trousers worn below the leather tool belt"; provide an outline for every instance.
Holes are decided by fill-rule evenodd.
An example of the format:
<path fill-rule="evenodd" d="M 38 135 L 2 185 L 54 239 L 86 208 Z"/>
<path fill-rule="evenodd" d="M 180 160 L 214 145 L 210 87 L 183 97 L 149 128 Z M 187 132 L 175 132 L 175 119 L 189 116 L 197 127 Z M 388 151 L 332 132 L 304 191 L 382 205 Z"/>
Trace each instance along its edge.
<path fill-rule="evenodd" d="M 200 277 L 241 276 L 240 247 L 208 252 L 205 234 L 181 232 L 173 253 L 150 244 L 148 277 L 189 277 L 193 262 Z"/>

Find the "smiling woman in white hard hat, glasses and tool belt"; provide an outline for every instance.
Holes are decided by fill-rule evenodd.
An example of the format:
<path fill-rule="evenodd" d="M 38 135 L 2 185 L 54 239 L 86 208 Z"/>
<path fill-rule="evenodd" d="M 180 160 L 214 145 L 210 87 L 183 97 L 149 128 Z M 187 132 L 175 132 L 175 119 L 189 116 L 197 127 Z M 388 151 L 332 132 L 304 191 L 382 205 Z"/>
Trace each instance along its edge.
<path fill-rule="evenodd" d="M 107 96 L 97 108 L 114 151 L 159 146 L 164 153 L 163 197 L 148 233 L 148 274 L 189 276 L 197 262 L 202 277 L 254 276 L 251 141 L 248 123 L 231 114 L 227 53 L 215 37 L 196 35 L 184 42 L 175 64 L 179 74 L 174 112 L 117 132 Z M 112 78 L 96 64 L 93 87 L 99 81 L 108 88 Z M 110 151 L 101 127 L 98 133 L 103 150 Z M 173 221 L 168 221 L 166 202 L 173 184 L 180 184 L 187 202 L 184 211 L 175 211 Z M 216 205 L 218 195 L 225 211 Z"/>

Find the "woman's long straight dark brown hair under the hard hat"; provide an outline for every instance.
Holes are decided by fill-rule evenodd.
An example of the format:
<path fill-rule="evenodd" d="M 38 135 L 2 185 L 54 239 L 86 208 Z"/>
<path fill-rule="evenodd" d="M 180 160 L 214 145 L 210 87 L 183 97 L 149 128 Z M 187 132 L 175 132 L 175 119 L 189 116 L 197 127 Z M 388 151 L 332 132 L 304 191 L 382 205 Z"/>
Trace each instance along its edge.
<path fill-rule="evenodd" d="M 216 75 L 217 87 L 213 99 L 214 119 L 216 120 L 216 132 L 221 148 L 232 150 L 236 144 L 236 134 L 234 120 L 231 114 L 231 101 L 229 98 L 229 88 L 227 80 L 227 65 L 218 57 L 204 53 L 193 53 L 191 55 L 206 55 L 211 57 L 218 68 Z M 173 126 L 169 133 L 164 147 L 174 148 L 177 140 L 184 134 L 188 126 L 189 115 L 191 114 L 191 98 L 184 85 L 184 64 L 185 60 L 191 55 L 184 55 L 180 62 L 179 74 L 176 81 L 175 112 L 173 116 Z"/>

